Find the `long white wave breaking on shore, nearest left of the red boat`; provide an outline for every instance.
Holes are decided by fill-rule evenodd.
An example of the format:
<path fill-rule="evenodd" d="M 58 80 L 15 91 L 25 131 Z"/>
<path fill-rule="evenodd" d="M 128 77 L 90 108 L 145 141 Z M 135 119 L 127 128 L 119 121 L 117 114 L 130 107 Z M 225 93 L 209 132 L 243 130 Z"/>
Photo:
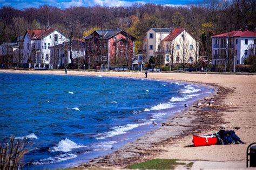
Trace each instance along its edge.
<path fill-rule="evenodd" d="M 148 125 L 151 124 L 151 122 L 146 122 L 146 123 L 141 123 L 141 124 L 128 124 L 124 126 L 115 126 L 112 127 L 110 132 L 104 132 L 104 133 L 99 133 L 95 137 L 96 139 L 106 139 L 106 138 L 111 138 L 116 135 L 120 134 L 125 134 L 127 131 L 132 130 L 133 128 L 136 128 L 138 126 L 143 126 L 143 125 Z"/>

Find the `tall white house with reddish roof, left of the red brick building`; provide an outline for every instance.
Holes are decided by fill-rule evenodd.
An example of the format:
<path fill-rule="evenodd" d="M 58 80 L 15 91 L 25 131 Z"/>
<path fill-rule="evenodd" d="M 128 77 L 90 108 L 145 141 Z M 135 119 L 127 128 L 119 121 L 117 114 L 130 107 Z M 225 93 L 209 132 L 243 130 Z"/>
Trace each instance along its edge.
<path fill-rule="evenodd" d="M 23 63 L 44 64 L 52 68 L 49 48 L 64 42 L 68 42 L 68 38 L 57 29 L 26 30 Z"/>

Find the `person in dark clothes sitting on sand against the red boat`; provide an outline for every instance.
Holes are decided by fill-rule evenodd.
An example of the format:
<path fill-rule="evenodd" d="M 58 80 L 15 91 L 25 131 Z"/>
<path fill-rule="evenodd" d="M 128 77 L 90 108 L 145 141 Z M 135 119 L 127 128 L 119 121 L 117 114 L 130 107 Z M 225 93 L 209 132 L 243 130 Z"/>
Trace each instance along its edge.
<path fill-rule="evenodd" d="M 234 131 L 226 131 L 225 125 L 220 125 L 220 131 L 218 132 L 219 137 L 223 140 L 225 145 L 228 144 L 245 144 L 241 141 L 238 135 Z"/>

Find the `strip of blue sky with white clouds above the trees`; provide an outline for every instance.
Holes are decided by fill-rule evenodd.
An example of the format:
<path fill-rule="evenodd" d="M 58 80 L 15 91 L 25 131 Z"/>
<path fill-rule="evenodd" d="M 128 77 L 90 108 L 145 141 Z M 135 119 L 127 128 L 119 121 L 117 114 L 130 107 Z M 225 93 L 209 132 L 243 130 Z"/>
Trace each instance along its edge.
<path fill-rule="evenodd" d="M 69 8 L 71 6 L 130 6 L 133 3 L 155 3 L 163 5 L 184 5 L 190 3 L 198 3 L 203 0 L 0 0 L 0 8 L 2 6 L 12 6 L 16 9 L 38 8 L 41 5 L 51 5 L 57 8 Z"/>

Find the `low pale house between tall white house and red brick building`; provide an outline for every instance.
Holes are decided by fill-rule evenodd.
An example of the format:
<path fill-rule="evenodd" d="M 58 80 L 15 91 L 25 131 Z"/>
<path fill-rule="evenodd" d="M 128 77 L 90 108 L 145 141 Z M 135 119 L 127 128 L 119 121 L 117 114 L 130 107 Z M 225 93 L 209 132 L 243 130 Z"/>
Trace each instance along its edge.
<path fill-rule="evenodd" d="M 58 66 L 66 67 L 71 63 L 69 42 L 51 46 L 50 51 L 52 58 L 56 56 Z M 82 66 L 84 64 L 82 64 L 82 61 L 85 61 L 85 43 L 83 40 L 73 40 L 71 52 L 72 58 L 75 60 L 75 62 L 81 62 L 76 64 Z M 77 60 L 78 58 L 79 60 Z"/>

